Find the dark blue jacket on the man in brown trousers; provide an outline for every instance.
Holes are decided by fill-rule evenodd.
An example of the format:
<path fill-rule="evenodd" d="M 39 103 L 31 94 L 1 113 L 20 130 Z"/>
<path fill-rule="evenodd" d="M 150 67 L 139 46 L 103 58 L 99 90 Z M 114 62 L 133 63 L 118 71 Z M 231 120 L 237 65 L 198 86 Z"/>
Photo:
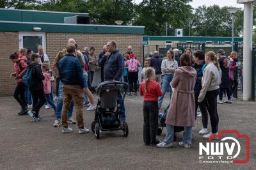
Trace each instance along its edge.
<path fill-rule="evenodd" d="M 84 88 L 83 70 L 79 59 L 73 54 L 66 54 L 58 65 L 60 80 L 64 85 L 80 85 Z"/>

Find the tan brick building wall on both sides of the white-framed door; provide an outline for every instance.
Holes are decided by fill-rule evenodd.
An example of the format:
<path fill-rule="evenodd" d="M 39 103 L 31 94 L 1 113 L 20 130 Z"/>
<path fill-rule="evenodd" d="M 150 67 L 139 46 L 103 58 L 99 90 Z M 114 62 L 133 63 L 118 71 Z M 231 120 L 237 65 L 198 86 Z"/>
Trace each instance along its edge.
<path fill-rule="evenodd" d="M 142 60 L 142 35 L 120 34 L 81 34 L 81 33 L 46 33 L 46 52 L 50 58 L 51 66 L 59 50 L 67 45 L 68 38 L 74 38 L 83 49 L 85 46 L 95 47 L 95 54 L 99 56 L 102 47 L 109 40 L 115 40 L 117 48 L 123 54 L 129 45 L 141 62 Z M 15 80 L 10 77 L 13 72 L 13 63 L 9 56 L 19 50 L 19 33 L 0 31 L 0 97 L 10 96 L 15 88 Z"/>

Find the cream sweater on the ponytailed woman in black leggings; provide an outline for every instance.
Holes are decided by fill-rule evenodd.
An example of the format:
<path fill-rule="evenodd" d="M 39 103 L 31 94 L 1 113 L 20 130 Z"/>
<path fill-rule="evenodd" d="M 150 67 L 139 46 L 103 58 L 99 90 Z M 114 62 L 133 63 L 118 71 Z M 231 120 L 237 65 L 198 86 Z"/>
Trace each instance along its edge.
<path fill-rule="evenodd" d="M 198 102 L 202 102 L 205 98 L 207 91 L 212 91 L 220 88 L 221 84 L 221 71 L 211 62 L 204 70 L 202 77 L 202 89 L 198 97 Z"/>

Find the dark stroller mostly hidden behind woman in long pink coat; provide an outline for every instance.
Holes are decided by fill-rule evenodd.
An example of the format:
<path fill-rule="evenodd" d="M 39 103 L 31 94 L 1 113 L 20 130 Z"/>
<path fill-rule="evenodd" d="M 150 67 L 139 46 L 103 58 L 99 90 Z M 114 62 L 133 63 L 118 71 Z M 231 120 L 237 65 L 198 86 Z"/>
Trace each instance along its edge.
<path fill-rule="evenodd" d="M 157 135 L 161 135 L 163 132 L 164 127 L 166 127 L 165 125 L 165 120 L 166 120 L 166 116 L 168 114 L 168 111 L 170 109 L 170 104 L 166 107 L 166 109 L 164 109 L 164 112 L 159 112 L 158 115 L 158 128 L 157 128 Z M 184 127 L 174 127 L 174 138 L 173 141 L 176 141 L 176 132 L 182 132 L 184 131 Z"/>

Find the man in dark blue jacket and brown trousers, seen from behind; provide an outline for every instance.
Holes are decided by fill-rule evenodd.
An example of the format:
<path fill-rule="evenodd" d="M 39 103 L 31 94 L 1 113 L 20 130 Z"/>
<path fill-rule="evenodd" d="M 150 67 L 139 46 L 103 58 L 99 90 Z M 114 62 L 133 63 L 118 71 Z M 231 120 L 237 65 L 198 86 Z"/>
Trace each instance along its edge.
<path fill-rule="evenodd" d="M 74 101 L 76 107 L 76 118 L 79 134 L 89 132 L 84 127 L 83 119 L 83 101 L 84 101 L 84 76 L 79 59 L 74 56 L 76 47 L 73 43 L 67 45 L 67 54 L 60 59 L 58 70 L 60 81 L 63 83 L 63 109 L 61 112 L 62 133 L 72 132 L 72 128 L 68 127 L 67 112 L 70 109 L 71 101 Z"/>

